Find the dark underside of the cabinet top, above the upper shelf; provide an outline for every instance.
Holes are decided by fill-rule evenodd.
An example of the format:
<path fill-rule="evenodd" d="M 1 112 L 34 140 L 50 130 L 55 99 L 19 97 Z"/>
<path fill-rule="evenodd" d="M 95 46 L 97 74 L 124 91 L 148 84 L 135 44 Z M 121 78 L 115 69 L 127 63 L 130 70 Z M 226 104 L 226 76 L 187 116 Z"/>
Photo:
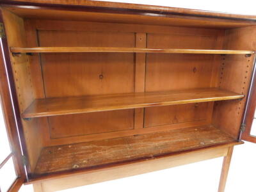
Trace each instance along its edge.
<path fill-rule="evenodd" d="M 55 1 L 54 1 L 55 2 Z M 77 2 L 76 2 L 77 3 Z M 4 8 L 29 19 L 50 20 L 88 20 L 96 22 L 154 24 L 158 26 L 188 26 L 199 28 L 241 28 L 255 24 L 253 20 L 246 19 L 220 19 L 218 17 L 198 17 L 199 15 L 180 15 L 166 12 L 148 10 L 129 10 L 126 8 L 113 9 L 98 6 L 28 6 L 3 4 Z M 36 8 L 35 8 L 36 7 Z M 154 12 L 152 14 L 152 12 Z"/>

